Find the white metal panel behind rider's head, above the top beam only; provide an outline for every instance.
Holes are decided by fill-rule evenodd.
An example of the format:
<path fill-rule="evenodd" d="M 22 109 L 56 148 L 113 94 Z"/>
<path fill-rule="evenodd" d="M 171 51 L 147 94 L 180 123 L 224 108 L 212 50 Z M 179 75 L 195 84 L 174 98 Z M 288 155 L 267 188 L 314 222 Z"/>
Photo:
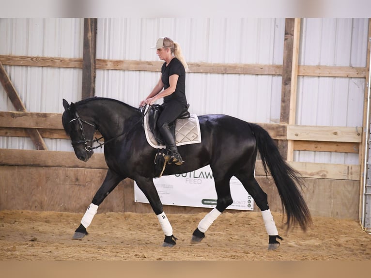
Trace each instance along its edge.
<path fill-rule="evenodd" d="M 187 62 L 282 64 L 284 19 L 99 18 L 97 58 L 158 61 L 159 36 L 180 43 Z"/>

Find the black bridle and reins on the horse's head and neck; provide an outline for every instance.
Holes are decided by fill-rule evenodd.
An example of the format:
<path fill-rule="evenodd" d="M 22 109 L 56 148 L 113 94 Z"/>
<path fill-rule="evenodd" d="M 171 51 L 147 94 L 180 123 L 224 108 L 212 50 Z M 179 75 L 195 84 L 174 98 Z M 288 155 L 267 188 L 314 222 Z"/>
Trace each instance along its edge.
<path fill-rule="evenodd" d="M 80 127 L 80 131 L 81 131 L 81 135 L 82 135 L 82 140 L 71 141 L 71 144 L 74 145 L 74 144 L 84 143 L 85 144 L 85 151 L 87 151 L 87 152 L 91 152 L 91 151 L 93 151 L 94 149 L 97 149 L 97 148 L 101 148 L 102 149 L 102 146 L 104 144 L 108 143 L 109 141 L 112 141 L 112 140 L 117 139 L 118 137 L 124 135 L 125 133 L 128 133 L 129 131 L 131 131 L 134 128 L 135 125 L 137 125 L 137 124 L 139 124 L 140 122 L 143 121 L 143 119 L 144 119 L 145 115 L 148 113 L 148 110 L 149 109 L 147 109 L 147 111 L 145 111 L 145 109 L 143 107 L 140 107 L 139 109 L 140 109 L 140 112 L 142 114 L 142 116 L 140 117 L 139 121 L 137 121 L 135 124 L 133 124 L 129 130 L 124 131 L 122 134 L 119 134 L 119 135 L 117 135 L 117 136 L 115 136 L 115 137 L 113 137 L 113 138 L 111 138 L 111 139 L 109 139 L 107 141 L 104 141 L 103 143 L 99 142 L 99 140 L 102 139 L 103 136 L 100 137 L 100 138 L 96 138 L 95 137 L 95 139 L 89 139 L 89 140 L 85 139 L 84 126 L 82 125 L 82 123 L 88 124 L 90 126 L 93 126 L 95 130 L 96 130 L 96 126 L 95 126 L 95 124 L 91 124 L 91 123 L 89 123 L 89 122 L 81 119 L 80 116 L 77 114 L 77 111 L 76 111 L 75 112 L 76 118 L 72 119 L 70 121 L 70 123 L 72 123 L 74 121 L 77 121 L 77 123 L 78 123 L 78 125 Z M 145 112 L 143 113 L 143 111 L 145 111 Z M 92 142 L 92 143 L 97 142 L 99 145 L 98 146 L 95 146 L 95 147 L 91 147 L 91 146 L 88 146 L 87 145 L 89 142 Z"/>

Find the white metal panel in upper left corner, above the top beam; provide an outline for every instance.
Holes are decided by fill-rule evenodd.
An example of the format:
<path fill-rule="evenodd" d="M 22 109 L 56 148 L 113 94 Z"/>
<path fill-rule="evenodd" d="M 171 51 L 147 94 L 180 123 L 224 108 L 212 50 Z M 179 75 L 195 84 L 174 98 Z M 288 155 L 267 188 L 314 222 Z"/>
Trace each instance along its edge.
<path fill-rule="evenodd" d="M 82 18 L 0 18 L 2 55 L 81 58 Z"/>

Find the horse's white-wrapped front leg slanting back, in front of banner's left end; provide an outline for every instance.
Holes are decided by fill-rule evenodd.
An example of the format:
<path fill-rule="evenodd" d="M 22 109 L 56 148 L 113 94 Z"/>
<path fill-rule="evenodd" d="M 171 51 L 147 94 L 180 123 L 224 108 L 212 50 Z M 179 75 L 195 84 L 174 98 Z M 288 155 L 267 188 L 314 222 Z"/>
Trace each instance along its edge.
<path fill-rule="evenodd" d="M 151 207 L 155 212 L 158 221 L 160 222 L 162 231 L 165 234 L 165 239 L 162 246 L 173 247 L 176 244 L 175 240 L 177 240 L 177 238 L 173 235 L 169 219 L 163 211 L 162 203 L 160 197 L 158 196 L 158 192 L 154 185 L 153 179 L 139 177 L 135 181 L 139 189 L 144 193 L 144 195 L 150 202 Z"/>

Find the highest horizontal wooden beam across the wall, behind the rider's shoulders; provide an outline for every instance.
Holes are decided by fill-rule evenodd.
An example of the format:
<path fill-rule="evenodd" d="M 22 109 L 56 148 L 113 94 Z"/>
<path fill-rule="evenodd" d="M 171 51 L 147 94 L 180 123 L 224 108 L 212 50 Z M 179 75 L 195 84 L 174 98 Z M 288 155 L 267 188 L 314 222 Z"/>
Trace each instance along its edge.
<path fill-rule="evenodd" d="M 80 58 L 0 55 L 4 65 L 82 68 Z M 162 62 L 96 59 L 96 69 L 155 71 Z M 282 75 L 282 65 L 189 62 L 191 73 Z M 298 76 L 366 78 L 366 67 L 299 65 Z"/>

